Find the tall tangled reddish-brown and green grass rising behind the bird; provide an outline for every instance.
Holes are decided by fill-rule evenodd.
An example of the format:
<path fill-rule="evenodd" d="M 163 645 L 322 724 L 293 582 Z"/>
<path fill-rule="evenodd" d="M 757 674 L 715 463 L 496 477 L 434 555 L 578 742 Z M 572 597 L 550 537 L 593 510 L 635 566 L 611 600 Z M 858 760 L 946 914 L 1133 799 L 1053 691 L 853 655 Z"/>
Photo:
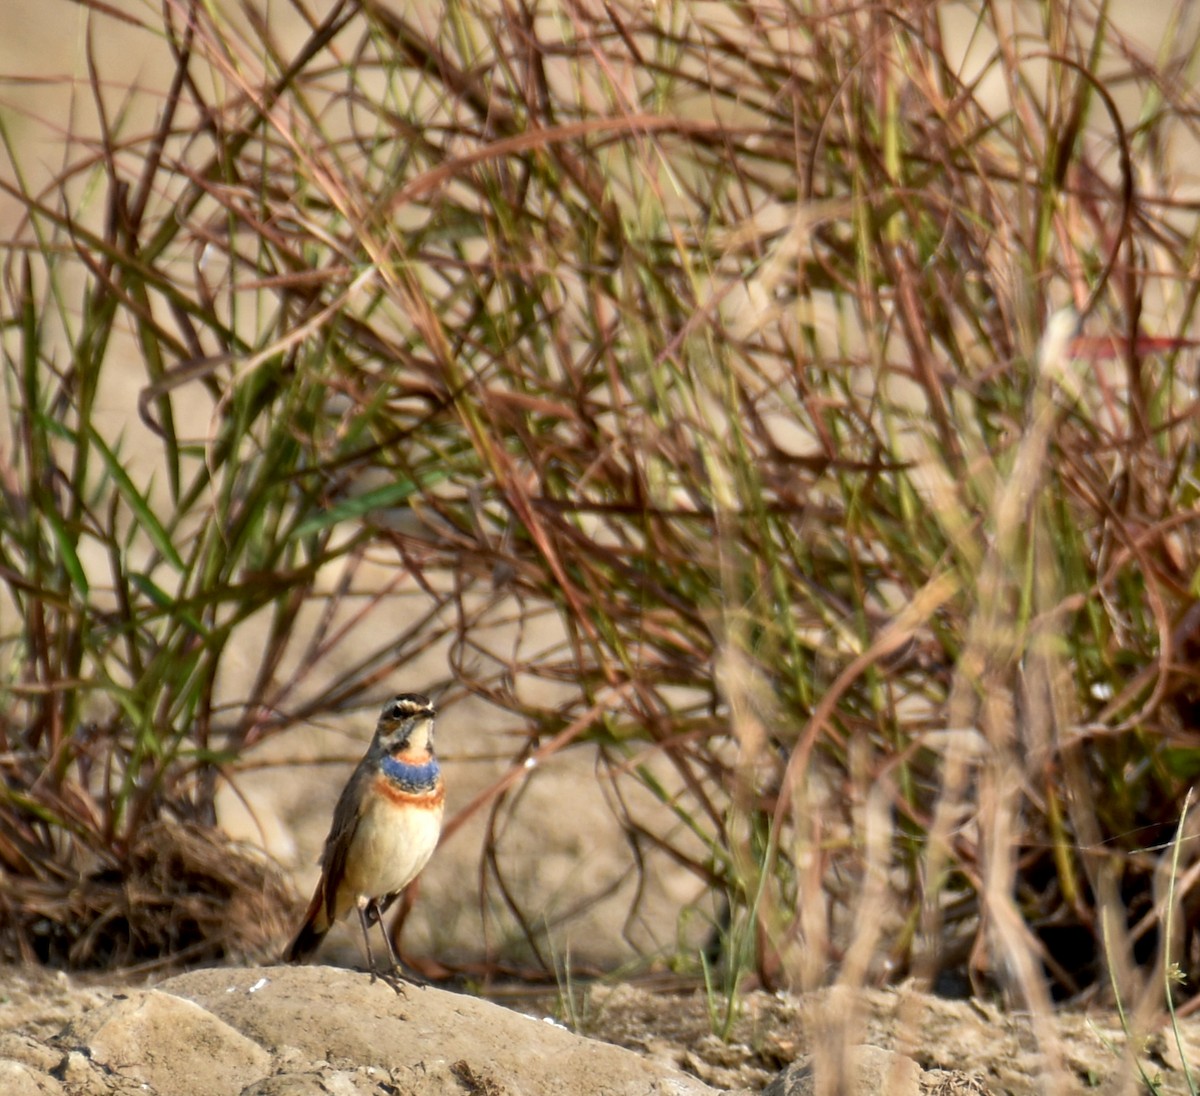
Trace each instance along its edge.
<path fill-rule="evenodd" d="M 220 781 L 444 645 L 481 864 L 589 750 L 710 986 L 1195 972 L 1187 5 L 86 6 L 0 131 L 5 954 L 276 939 Z"/>

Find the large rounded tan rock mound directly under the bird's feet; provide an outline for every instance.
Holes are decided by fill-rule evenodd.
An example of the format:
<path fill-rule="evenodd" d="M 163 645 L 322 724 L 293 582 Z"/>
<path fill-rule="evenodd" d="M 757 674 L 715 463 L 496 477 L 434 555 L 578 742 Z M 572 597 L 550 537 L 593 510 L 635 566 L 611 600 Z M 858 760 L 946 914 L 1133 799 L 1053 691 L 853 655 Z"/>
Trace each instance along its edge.
<path fill-rule="evenodd" d="M 336 968 L 222 968 L 155 989 L 86 990 L 79 1000 L 70 1016 L 58 1013 L 58 1029 L 52 1013 L 37 1008 L 46 1035 L 0 1030 L 2 1096 L 716 1091 L 488 1001 L 432 987 L 397 994 Z"/>

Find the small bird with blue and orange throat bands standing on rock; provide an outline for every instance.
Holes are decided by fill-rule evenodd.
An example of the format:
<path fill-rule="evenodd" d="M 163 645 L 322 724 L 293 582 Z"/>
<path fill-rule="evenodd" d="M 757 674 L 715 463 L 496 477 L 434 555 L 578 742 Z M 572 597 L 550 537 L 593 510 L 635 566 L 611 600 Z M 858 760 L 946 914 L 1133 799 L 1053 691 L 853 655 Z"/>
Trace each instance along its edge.
<path fill-rule="evenodd" d="M 358 908 L 371 977 L 371 924 L 380 922 L 391 972 L 400 962 L 383 915 L 428 863 L 442 832 L 445 787 L 433 755 L 433 705 L 403 693 L 384 705 L 374 738 L 334 809 L 334 825 L 320 855 L 320 881 L 304 924 L 283 962 L 300 963 L 330 927 Z"/>

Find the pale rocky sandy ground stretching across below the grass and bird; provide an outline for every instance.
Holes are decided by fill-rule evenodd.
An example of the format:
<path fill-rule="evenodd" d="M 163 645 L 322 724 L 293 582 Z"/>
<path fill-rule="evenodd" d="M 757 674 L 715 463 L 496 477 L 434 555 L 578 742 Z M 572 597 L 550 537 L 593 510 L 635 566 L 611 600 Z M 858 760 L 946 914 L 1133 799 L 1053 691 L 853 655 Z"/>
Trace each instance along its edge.
<path fill-rule="evenodd" d="M 214 969 L 157 988 L 7 969 L 0 970 L 0 1091 L 13 1096 L 397 1090 L 700 1096 L 761 1091 L 805 1058 L 833 1070 L 834 1049 L 860 1044 L 896 1052 L 926 1071 L 922 1092 L 1146 1091 L 1139 1066 L 1159 1092 L 1189 1091 L 1180 1046 L 1166 1029 L 1133 1042 L 1134 1062 L 1126 1056 L 1130 1042 L 1106 1010 L 1066 1010 L 1033 1024 L 978 1002 L 905 989 L 749 993 L 737 999 L 722 1035 L 716 1029 L 726 1002 L 678 986 L 594 983 L 548 995 L 514 989 L 498 996 L 499 1007 L 433 987 L 396 994 L 364 974 L 322 966 Z M 557 1023 L 530 1024 L 528 1017 Z M 587 1038 L 569 1041 L 565 1028 Z M 1181 1038 L 1193 1061 L 1200 1060 L 1200 1026 L 1183 1022 Z M 632 1053 L 613 1056 L 602 1049 L 607 1046 Z M 210 1059 L 200 1084 L 191 1074 Z M 445 1088 L 443 1067 L 458 1085 Z"/>

